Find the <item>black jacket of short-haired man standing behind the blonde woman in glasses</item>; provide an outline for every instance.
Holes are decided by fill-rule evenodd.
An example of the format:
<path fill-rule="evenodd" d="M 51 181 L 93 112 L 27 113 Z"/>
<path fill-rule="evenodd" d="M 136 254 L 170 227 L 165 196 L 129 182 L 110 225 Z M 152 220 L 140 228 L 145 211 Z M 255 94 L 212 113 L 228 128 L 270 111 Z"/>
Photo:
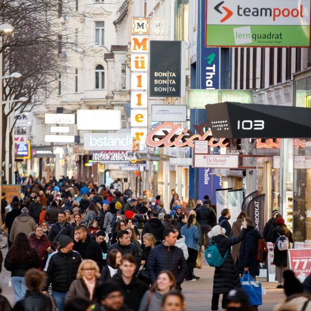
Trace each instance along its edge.
<path fill-rule="evenodd" d="M 101 247 L 97 242 L 87 237 L 84 243 L 82 241 L 74 241 L 74 244 L 73 249 L 81 255 L 82 259 L 91 259 L 96 262 L 99 271 L 102 269 Z"/>

